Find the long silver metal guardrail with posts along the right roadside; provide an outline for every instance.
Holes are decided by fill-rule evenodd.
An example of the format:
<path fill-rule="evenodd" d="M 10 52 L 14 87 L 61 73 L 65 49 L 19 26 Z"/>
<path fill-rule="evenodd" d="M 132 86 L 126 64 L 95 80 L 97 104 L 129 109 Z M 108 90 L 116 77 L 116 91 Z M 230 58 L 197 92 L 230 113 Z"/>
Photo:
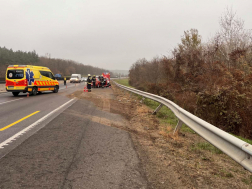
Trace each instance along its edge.
<path fill-rule="evenodd" d="M 196 117 L 164 97 L 143 92 L 134 88 L 129 88 L 124 85 L 120 85 L 115 81 L 114 83 L 121 89 L 159 102 L 160 105 L 157 107 L 154 113 L 158 112 L 163 105 L 168 107 L 179 120 L 174 133 L 178 132 L 182 124 L 185 123 L 188 127 L 194 130 L 212 145 L 219 148 L 222 152 L 230 156 L 245 169 L 252 172 L 252 145 Z"/>

